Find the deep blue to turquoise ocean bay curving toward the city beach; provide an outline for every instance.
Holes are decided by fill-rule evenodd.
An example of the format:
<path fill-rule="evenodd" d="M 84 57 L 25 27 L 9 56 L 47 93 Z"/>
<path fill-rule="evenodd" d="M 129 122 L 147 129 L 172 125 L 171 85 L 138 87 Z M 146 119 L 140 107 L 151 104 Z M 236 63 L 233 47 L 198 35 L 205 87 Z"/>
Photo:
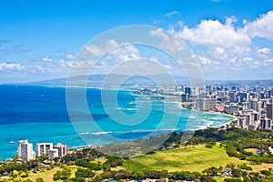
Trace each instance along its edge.
<path fill-rule="evenodd" d="M 0 86 L 0 157 L 16 155 L 16 142 L 21 139 L 34 145 L 40 142 L 61 142 L 68 147 L 104 145 L 173 130 L 224 126 L 232 120 L 230 116 L 181 109 L 178 103 L 134 95 L 131 91 L 119 91 L 117 105 L 111 97 L 114 91 L 107 91 L 103 105 L 101 90 L 87 89 L 84 107 L 85 102 L 78 99 L 82 88 L 71 89 L 69 117 L 65 88 Z"/>

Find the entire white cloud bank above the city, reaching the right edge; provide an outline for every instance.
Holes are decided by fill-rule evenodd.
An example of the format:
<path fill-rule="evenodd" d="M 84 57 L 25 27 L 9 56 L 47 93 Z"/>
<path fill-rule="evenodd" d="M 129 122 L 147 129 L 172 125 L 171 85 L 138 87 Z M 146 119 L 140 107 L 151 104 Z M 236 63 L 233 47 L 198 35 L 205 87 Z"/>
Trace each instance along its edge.
<path fill-rule="evenodd" d="M 179 23 L 179 26 L 170 26 L 169 32 L 191 43 L 197 61 L 208 71 L 211 66 L 238 71 L 262 70 L 272 65 L 272 47 L 268 44 L 268 47 L 255 47 L 262 41 L 273 40 L 273 11 L 253 21 L 244 19 L 240 26 L 235 25 L 237 21 L 235 16 L 229 16 L 225 22 L 207 19 L 192 27 Z M 258 42 L 257 37 L 261 38 Z M 259 45 L 255 45 L 257 43 Z"/>

